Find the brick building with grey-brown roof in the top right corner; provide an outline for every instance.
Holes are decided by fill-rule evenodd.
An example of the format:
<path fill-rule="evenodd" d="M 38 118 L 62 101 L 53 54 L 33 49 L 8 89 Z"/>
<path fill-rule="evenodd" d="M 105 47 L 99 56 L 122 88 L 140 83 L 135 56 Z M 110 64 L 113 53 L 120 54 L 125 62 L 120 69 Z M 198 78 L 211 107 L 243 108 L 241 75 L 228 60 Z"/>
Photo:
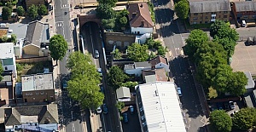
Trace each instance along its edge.
<path fill-rule="evenodd" d="M 236 20 L 246 20 L 255 22 L 256 19 L 256 1 L 237 0 L 231 2 L 232 12 L 236 15 Z"/>

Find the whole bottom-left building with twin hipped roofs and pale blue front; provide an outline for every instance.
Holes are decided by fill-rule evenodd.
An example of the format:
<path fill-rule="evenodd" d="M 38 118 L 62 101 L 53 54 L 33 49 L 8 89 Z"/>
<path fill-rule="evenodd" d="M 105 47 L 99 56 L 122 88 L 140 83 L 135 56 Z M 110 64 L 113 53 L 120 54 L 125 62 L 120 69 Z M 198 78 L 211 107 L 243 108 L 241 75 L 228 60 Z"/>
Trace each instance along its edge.
<path fill-rule="evenodd" d="M 58 130 L 57 104 L 45 106 L 17 106 L 0 108 L 4 112 L 5 131 L 55 131 Z"/>

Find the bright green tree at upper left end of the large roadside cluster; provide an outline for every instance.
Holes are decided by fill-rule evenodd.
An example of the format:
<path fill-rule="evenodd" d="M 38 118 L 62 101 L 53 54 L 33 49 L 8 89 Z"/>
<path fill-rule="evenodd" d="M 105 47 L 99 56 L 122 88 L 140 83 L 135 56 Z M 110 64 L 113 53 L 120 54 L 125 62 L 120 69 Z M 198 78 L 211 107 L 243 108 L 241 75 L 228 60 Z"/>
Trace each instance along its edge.
<path fill-rule="evenodd" d="M 194 54 L 197 49 L 201 48 L 201 45 L 207 43 L 209 38 L 206 32 L 199 29 L 195 29 L 190 32 L 188 39 L 186 39 L 186 45 L 183 47 L 184 54 L 189 55 L 189 58 L 194 59 Z"/>

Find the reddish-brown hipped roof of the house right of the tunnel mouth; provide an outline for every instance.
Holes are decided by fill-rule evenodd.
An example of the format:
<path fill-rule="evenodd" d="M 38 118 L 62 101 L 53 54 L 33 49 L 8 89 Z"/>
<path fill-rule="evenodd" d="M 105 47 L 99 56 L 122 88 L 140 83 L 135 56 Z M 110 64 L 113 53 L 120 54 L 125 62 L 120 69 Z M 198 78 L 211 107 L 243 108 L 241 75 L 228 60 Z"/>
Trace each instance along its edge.
<path fill-rule="evenodd" d="M 131 3 L 127 6 L 129 22 L 132 27 L 154 27 L 147 3 Z"/>

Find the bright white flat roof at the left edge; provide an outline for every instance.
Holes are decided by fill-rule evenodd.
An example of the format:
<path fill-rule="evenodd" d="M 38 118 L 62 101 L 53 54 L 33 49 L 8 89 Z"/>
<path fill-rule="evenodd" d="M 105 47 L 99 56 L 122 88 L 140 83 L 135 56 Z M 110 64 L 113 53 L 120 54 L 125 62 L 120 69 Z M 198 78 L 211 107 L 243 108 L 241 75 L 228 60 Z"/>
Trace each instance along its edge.
<path fill-rule="evenodd" d="M 14 57 L 14 43 L 0 43 L 0 59 Z"/>

